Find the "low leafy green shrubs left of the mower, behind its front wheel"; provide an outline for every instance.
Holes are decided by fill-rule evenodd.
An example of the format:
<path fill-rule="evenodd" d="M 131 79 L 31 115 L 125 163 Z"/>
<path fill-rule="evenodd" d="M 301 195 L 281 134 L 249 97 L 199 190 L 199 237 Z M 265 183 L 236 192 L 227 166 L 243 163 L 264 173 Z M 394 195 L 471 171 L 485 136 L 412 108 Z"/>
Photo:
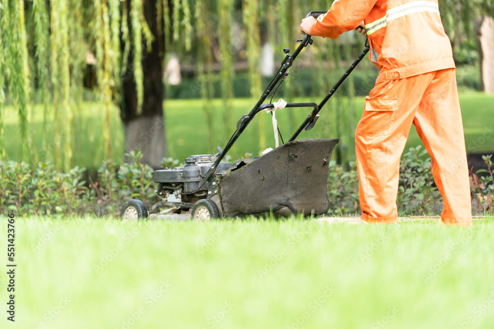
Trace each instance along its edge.
<path fill-rule="evenodd" d="M 138 162 L 140 151 L 126 155 L 129 163 L 104 162 L 98 169 L 98 181 L 90 183 L 83 179 L 85 168 L 59 172 L 53 164 L 38 163 L 31 170 L 25 162 L 0 161 L 0 206 L 19 214 L 64 216 L 116 216 L 131 198 L 144 198 L 150 206 L 157 197 L 154 171 Z"/>

